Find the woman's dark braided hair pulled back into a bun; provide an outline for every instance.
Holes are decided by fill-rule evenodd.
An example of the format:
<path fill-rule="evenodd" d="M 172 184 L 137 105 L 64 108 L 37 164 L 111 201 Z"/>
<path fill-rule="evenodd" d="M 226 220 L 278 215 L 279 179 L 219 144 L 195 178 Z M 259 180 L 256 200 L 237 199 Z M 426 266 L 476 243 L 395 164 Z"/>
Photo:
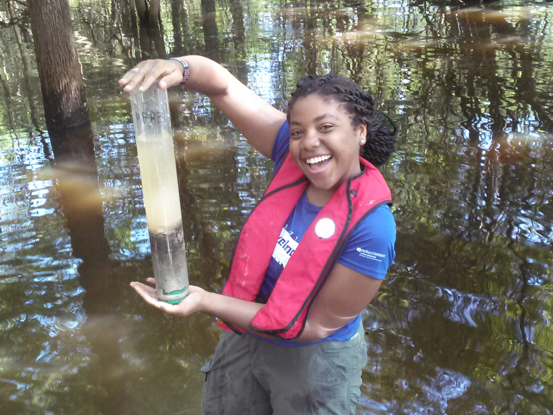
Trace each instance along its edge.
<path fill-rule="evenodd" d="M 319 94 L 344 103 L 351 115 L 353 126 L 367 125 L 367 140 L 359 149 L 361 157 L 375 166 L 385 164 L 395 151 L 396 127 L 383 112 L 374 109 L 373 97 L 359 85 L 343 76 L 309 75 L 302 77 L 288 101 L 286 118 L 290 122 L 290 110 L 299 98 Z M 390 129 L 390 124 L 393 129 Z"/>

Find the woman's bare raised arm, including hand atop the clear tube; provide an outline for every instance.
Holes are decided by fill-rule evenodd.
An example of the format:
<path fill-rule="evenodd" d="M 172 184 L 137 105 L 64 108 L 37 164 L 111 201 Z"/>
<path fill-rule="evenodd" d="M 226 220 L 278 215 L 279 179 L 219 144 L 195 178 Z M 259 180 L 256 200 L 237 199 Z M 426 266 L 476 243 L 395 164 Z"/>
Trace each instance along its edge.
<path fill-rule="evenodd" d="M 216 62 L 195 55 L 182 56 L 182 59 L 190 69 L 184 86 L 207 95 L 257 151 L 270 157 L 276 133 L 286 115 Z M 145 60 L 124 74 L 119 84 L 126 92 L 138 85 L 140 91 L 145 91 L 156 81 L 161 89 L 166 89 L 181 83 L 183 71 L 175 60 Z"/>

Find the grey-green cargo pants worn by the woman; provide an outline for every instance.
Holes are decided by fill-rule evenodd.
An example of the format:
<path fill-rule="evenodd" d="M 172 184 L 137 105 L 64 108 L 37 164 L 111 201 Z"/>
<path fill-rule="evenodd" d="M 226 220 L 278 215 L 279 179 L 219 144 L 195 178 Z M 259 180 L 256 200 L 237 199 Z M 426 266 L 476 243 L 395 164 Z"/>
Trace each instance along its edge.
<path fill-rule="evenodd" d="M 286 347 L 223 331 L 203 367 L 205 415 L 346 415 L 361 396 L 363 326 L 348 341 Z"/>

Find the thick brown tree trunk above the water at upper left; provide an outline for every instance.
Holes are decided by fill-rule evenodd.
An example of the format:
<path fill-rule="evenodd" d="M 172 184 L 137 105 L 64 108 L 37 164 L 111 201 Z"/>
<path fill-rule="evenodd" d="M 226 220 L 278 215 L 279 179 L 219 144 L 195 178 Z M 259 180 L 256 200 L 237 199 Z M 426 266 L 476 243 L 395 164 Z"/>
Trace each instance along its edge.
<path fill-rule="evenodd" d="M 28 0 L 48 129 L 90 120 L 67 0 Z"/>

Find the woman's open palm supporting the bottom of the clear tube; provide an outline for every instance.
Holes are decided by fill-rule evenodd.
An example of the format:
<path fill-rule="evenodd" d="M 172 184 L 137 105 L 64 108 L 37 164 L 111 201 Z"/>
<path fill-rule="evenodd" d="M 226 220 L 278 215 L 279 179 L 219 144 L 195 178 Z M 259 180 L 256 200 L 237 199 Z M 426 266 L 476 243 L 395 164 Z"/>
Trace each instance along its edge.
<path fill-rule="evenodd" d="M 154 278 L 148 278 L 146 281 L 150 284 L 155 284 Z M 133 287 L 136 292 L 140 294 L 140 297 L 148 304 L 159 308 L 165 313 L 180 315 L 182 317 L 202 311 L 202 297 L 206 292 L 200 287 L 189 286 L 188 289 L 190 290 L 190 294 L 188 294 L 184 300 L 179 304 L 168 304 L 158 300 L 158 296 L 155 294 L 155 288 L 152 286 L 133 281 L 131 287 Z"/>

